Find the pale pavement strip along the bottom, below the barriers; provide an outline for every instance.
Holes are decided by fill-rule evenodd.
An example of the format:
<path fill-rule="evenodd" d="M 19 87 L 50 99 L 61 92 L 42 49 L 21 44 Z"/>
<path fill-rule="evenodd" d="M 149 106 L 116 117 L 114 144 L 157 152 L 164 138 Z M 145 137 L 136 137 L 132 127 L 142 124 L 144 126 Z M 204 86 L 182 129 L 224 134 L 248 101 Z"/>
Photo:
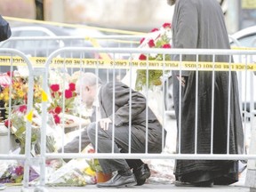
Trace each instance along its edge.
<path fill-rule="evenodd" d="M 211 192 L 220 192 L 220 191 L 232 191 L 232 192 L 250 192 L 250 188 L 246 188 L 243 186 L 213 186 L 212 188 L 196 188 L 196 187 L 182 187 L 178 188 L 172 184 L 163 185 L 163 184 L 146 184 L 143 186 L 134 186 L 130 188 L 97 188 L 96 185 L 87 185 L 85 187 L 47 187 L 42 190 L 38 190 L 37 188 L 21 188 L 21 187 L 7 187 L 3 190 L 3 192 L 149 192 L 149 191 L 170 191 L 170 192 L 179 192 L 179 191 L 211 191 Z"/>

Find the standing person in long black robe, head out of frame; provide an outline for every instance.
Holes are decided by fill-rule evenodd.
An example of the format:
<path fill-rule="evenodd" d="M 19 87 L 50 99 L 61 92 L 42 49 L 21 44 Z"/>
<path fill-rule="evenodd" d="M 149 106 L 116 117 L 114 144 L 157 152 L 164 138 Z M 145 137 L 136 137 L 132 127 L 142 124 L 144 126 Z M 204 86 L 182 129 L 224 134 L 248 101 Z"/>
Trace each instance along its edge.
<path fill-rule="evenodd" d="M 167 3 L 175 4 L 172 18 L 173 48 L 230 49 L 224 16 L 218 1 L 167 0 Z M 175 55 L 172 60 L 180 60 L 180 55 Z M 196 61 L 196 56 L 182 55 L 182 60 Z M 198 60 L 212 62 L 213 57 L 211 55 L 199 55 Z M 229 62 L 229 56 L 217 55 L 215 61 Z M 241 153 L 244 145 L 244 134 L 236 72 L 214 72 L 214 95 L 212 94 L 212 71 L 198 71 L 198 76 L 196 71 L 182 71 L 181 74 L 180 71 L 172 71 L 172 76 L 174 108 L 178 127 L 180 126 L 180 132 L 178 131 L 180 134 L 180 153 L 195 153 L 197 128 L 196 153 L 210 154 L 212 122 L 213 153 L 227 154 L 228 129 L 229 153 Z M 197 104 L 196 76 L 198 77 Z M 181 98 L 179 99 L 180 91 Z M 230 100 L 228 100 L 229 92 Z M 214 100 L 213 119 L 212 100 Z M 180 102 L 181 108 L 179 108 Z M 230 109 L 229 119 L 228 105 Z M 197 118 L 196 107 L 198 109 Z M 177 160 L 174 174 L 176 186 L 210 187 L 213 183 L 229 185 L 238 180 L 238 161 Z"/>

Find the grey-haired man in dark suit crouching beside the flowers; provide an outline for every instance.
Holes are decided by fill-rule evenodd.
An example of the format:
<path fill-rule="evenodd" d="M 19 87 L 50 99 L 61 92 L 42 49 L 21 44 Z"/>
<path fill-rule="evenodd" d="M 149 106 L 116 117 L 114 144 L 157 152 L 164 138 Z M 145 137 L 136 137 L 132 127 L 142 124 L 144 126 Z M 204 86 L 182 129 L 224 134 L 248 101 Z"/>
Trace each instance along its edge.
<path fill-rule="evenodd" d="M 120 82 L 101 84 L 100 78 L 93 73 L 84 73 L 77 80 L 76 92 L 88 108 L 94 108 L 92 123 L 81 135 L 82 148 L 91 142 L 99 153 L 111 153 L 112 147 L 114 153 L 162 152 L 166 131 L 152 110 L 147 108 L 146 98 L 140 92 Z M 78 142 L 77 137 L 65 146 L 64 151 L 77 152 Z M 148 164 L 140 159 L 111 158 L 99 159 L 99 162 L 103 172 L 117 173 L 111 180 L 97 183 L 98 187 L 143 185 L 150 176 Z"/>

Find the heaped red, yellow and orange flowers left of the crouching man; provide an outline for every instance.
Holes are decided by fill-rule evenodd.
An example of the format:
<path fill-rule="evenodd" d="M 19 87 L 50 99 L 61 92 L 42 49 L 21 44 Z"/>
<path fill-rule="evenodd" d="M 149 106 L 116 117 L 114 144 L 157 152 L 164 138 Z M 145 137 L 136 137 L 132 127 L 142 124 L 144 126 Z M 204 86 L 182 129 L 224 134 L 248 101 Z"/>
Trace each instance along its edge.
<path fill-rule="evenodd" d="M 2 92 L 0 93 L 0 100 L 4 101 L 4 108 L 6 111 L 4 125 L 10 129 L 12 134 L 14 134 L 15 136 L 15 141 L 20 144 L 20 154 L 24 154 L 26 122 L 28 121 L 26 117 L 26 115 L 28 114 L 28 76 L 20 76 L 20 73 L 17 71 L 13 71 L 12 73 L 8 72 L 7 75 L 11 79 L 10 84 L 4 84 L 4 86 L 1 84 Z M 36 154 L 40 153 L 40 127 L 42 124 L 41 103 L 42 94 L 44 92 L 41 84 L 42 80 L 40 78 L 36 78 L 33 97 L 34 110 L 31 122 L 31 152 L 35 156 Z M 74 108 L 76 92 L 74 83 L 68 84 L 67 88 L 60 87 L 60 84 L 49 84 L 49 89 L 51 92 L 51 97 L 49 97 L 47 129 L 48 132 L 50 130 L 50 132 L 52 133 L 46 136 L 46 150 L 47 152 L 54 152 L 56 150 L 56 140 L 54 139 L 54 132 L 56 132 L 58 124 L 70 124 L 74 122 L 70 119 L 67 119 L 63 114 L 68 114 L 72 112 L 72 109 Z M 11 110 L 9 109 L 9 107 L 11 108 Z M 11 111 L 10 114 L 9 111 Z"/>

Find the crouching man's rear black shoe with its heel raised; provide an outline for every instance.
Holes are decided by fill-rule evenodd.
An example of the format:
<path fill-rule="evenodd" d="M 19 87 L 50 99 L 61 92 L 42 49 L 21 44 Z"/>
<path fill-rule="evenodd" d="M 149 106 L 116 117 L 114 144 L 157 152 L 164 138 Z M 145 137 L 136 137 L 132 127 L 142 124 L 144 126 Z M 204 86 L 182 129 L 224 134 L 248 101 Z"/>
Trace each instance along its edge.
<path fill-rule="evenodd" d="M 142 164 L 137 170 L 133 170 L 133 174 L 137 180 L 137 186 L 143 185 L 150 177 L 150 170 L 148 164 Z"/>

